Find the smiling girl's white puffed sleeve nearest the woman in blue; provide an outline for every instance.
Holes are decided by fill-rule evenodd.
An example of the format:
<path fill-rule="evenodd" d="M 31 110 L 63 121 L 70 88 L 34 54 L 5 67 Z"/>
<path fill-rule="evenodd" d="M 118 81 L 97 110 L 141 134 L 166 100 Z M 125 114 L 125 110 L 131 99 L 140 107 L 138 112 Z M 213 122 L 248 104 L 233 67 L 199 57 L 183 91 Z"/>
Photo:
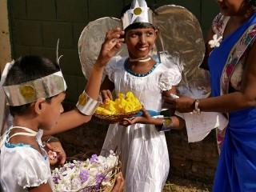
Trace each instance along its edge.
<path fill-rule="evenodd" d="M 163 66 L 162 74 L 160 75 L 159 87 L 160 90 L 170 90 L 172 86 L 177 86 L 182 80 L 182 74 L 178 66 L 171 67 Z"/>

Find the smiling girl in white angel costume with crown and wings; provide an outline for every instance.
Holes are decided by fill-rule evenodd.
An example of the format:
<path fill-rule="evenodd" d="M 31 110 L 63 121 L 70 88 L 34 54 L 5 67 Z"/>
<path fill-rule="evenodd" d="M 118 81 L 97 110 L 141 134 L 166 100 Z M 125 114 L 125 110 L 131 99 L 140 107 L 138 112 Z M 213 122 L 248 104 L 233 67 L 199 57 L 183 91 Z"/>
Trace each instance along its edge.
<path fill-rule="evenodd" d="M 169 11 L 167 15 L 166 10 Z M 125 49 L 121 49 L 118 55 L 110 60 L 106 67 L 106 78 L 102 82 L 103 100 L 112 97 L 110 94 L 112 90 L 115 90 L 116 95 L 131 91 L 145 108 L 142 116 L 124 119 L 119 124 L 111 124 L 102 147 L 102 155 L 108 155 L 109 150 L 118 149 L 120 151 L 122 173 L 126 179 L 125 189 L 129 192 L 162 191 L 170 168 L 164 131 L 179 130 L 184 126 L 184 121 L 178 116 L 159 116 L 162 110 L 162 93 L 176 94 L 175 86 L 182 79 L 182 65 L 178 59 L 178 56 L 182 55 L 178 54 L 177 57 L 174 57 L 170 56 L 166 50 L 160 51 L 164 46 L 169 46 L 164 45 L 166 42 L 163 38 L 166 33 L 168 35 L 166 29 L 160 29 L 162 35 L 159 41 L 164 43 L 160 43 L 162 46 L 158 48 L 155 47 L 160 26 L 158 24 L 168 16 L 172 14 L 174 16 L 176 10 L 181 11 L 180 14 L 184 12 L 188 14 L 180 6 L 162 6 L 156 10 L 157 16 L 154 16 L 153 11 L 148 8 L 144 0 L 134 0 L 122 14 L 122 28 L 125 31 L 123 38 L 128 54 L 125 53 Z M 191 16 L 191 14 L 189 15 Z M 90 68 L 90 59 L 93 61 L 94 58 L 93 50 L 90 50 L 89 47 L 97 44 L 94 38 L 90 40 L 86 35 L 92 34 L 93 31 L 94 35 L 101 35 L 96 26 L 102 26 L 105 23 L 107 25 L 104 30 L 108 30 L 108 27 L 117 25 L 118 22 L 118 19 L 102 18 L 91 22 L 83 30 L 79 39 L 79 54 L 86 76 L 88 75 L 87 70 Z M 166 20 L 166 22 L 168 21 Z M 194 41 L 194 38 L 191 42 Z M 199 39 L 200 41 L 194 41 L 194 44 L 203 43 L 203 40 Z M 176 46 L 176 42 L 170 43 Z M 190 42 L 186 43 L 190 44 Z M 94 52 L 97 51 L 94 50 Z M 86 57 L 82 53 L 87 53 Z M 172 54 L 177 53 L 173 52 Z"/>

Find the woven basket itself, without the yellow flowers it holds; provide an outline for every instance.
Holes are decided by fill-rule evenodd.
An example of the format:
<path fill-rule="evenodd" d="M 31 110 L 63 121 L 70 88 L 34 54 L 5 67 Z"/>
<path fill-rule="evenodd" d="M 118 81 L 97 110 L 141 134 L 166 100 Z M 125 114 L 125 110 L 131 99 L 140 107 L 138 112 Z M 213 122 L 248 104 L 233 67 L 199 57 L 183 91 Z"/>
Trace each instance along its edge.
<path fill-rule="evenodd" d="M 98 118 L 101 122 L 107 122 L 109 124 L 113 124 L 116 122 L 121 122 L 123 118 L 131 118 L 138 114 L 140 110 L 132 111 L 126 114 L 109 114 L 109 115 L 102 115 L 102 114 L 94 114 L 95 118 Z"/>

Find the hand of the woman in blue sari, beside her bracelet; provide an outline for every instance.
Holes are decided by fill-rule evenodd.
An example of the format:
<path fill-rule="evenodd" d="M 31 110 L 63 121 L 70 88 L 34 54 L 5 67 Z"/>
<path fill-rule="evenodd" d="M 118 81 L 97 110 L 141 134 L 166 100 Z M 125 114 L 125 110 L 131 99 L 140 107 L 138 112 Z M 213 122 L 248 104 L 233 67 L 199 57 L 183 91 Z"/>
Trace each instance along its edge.
<path fill-rule="evenodd" d="M 167 95 L 163 95 L 165 100 L 165 106 L 170 110 L 178 110 L 181 113 L 189 113 L 194 110 L 194 98 L 180 96 L 179 98 L 171 98 Z"/>

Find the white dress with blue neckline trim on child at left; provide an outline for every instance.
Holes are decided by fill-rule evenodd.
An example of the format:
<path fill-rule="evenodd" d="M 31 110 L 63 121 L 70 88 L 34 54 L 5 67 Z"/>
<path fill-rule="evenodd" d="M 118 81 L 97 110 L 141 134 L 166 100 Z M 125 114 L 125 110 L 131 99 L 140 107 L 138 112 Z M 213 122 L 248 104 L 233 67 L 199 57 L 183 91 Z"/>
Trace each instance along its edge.
<path fill-rule="evenodd" d="M 42 130 L 38 131 L 37 141 L 41 142 Z M 27 187 L 39 186 L 48 182 L 52 186 L 50 163 L 43 150 L 43 155 L 30 145 L 11 144 L 6 140 L 1 147 L 0 181 L 2 191 L 24 192 Z"/>

